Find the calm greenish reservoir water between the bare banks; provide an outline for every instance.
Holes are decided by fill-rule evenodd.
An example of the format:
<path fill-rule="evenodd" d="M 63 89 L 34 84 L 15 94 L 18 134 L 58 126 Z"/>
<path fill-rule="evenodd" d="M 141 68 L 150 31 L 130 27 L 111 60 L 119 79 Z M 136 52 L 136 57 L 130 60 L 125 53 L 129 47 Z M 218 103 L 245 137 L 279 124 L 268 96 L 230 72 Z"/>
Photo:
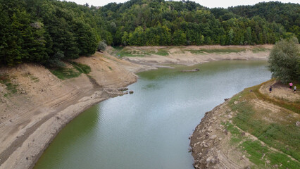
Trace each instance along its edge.
<path fill-rule="evenodd" d="M 139 73 L 134 94 L 108 99 L 69 123 L 35 169 L 192 169 L 189 135 L 206 111 L 270 79 L 265 61 L 215 61 Z M 180 70 L 199 68 L 199 72 Z"/>

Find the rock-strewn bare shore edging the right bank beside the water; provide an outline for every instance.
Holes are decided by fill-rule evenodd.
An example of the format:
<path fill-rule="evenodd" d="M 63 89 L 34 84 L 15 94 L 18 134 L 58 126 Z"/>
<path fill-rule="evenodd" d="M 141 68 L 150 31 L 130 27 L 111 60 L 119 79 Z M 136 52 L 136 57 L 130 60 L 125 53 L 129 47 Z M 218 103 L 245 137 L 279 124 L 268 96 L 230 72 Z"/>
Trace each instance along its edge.
<path fill-rule="evenodd" d="M 205 113 L 190 137 L 194 168 L 250 168 L 252 165 L 235 146 L 230 146 L 230 132 L 222 125 L 232 122 L 235 115 L 227 106 L 228 101 Z"/>

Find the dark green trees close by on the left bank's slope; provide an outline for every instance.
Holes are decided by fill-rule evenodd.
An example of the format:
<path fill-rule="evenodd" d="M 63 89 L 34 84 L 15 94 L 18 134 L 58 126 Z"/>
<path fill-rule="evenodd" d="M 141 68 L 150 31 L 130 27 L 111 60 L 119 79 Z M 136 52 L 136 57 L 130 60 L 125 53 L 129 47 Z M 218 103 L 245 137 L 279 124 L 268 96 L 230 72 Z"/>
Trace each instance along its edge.
<path fill-rule="evenodd" d="M 94 54 L 103 37 L 95 8 L 54 0 L 0 0 L 0 64 L 37 62 L 50 67 L 62 60 Z"/>

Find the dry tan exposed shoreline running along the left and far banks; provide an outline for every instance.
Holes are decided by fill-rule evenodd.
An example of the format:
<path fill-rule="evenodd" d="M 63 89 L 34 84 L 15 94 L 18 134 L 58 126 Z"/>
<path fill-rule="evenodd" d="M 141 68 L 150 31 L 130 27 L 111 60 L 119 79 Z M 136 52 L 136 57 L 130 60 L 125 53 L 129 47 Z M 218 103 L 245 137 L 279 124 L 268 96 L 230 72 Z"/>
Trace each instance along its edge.
<path fill-rule="evenodd" d="M 270 49 L 270 46 L 266 48 Z M 150 70 L 163 63 L 192 65 L 227 59 L 266 60 L 268 52 L 153 55 L 125 58 L 127 61 L 108 53 L 97 53 L 89 58 L 77 59 L 77 62 L 92 68 L 91 77 L 82 74 L 70 80 L 59 80 L 38 65 L 1 68 L 1 74 L 10 75 L 13 82 L 19 84 L 19 94 L 8 99 L 3 96 L 4 85 L 0 86 L 0 168 L 33 168 L 62 127 L 90 106 L 123 94 L 118 88 L 136 82 L 135 73 L 139 71 Z M 32 80 L 32 77 L 38 81 Z"/>

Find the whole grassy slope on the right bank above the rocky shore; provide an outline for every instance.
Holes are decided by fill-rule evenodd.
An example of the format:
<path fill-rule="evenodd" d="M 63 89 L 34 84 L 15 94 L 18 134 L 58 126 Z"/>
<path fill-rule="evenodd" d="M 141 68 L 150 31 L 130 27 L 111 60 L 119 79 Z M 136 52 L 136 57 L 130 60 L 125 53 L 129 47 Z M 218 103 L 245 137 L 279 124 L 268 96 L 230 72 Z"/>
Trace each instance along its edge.
<path fill-rule="evenodd" d="M 299 121 L 300 103 L 266 96 L 259 91 L 261 85 L 244 89 L 230 100 L 237 115 L 232 123 L 223 125 L 232 133 L 231 143 L 246 151 L 258 168 L 299 168 L 300 130 L 295 124 Z M 280 111 L 258 107 L 254 100 L 273 104 Z M 243 132 L 258 140 L 245 137 Z"/>

